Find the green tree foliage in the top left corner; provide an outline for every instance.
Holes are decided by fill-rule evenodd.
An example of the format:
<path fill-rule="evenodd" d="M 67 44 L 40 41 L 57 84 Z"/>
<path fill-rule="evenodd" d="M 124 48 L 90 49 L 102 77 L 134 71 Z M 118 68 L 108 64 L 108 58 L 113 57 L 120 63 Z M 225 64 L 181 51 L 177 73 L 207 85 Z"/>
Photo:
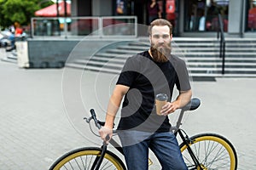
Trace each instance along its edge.
<path fill-rule="evenodd" d="M 51 4 L 50 0 L 0 0 L 0 26 L 8 27 L 15 22 L 27 26 L 38 9 Z"/>

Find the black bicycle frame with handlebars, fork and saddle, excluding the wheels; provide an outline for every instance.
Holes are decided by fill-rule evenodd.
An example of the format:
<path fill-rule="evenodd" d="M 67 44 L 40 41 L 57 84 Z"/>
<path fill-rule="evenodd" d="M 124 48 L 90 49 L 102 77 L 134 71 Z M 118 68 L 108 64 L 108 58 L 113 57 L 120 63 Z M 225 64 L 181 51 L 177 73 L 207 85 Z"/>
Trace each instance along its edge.
<path fill-rule="evenodd" d="M 171 130 L 172 132 L 175 134 L 175 136 L 177 136 L 177 134 L 180 136 L 180 138 L 182 139 L 183 143 L 187 145 L 187 149 L 189 151 L 189 155 L 191 156 L 192 160 L 194 161 L 195 165 L 197 165 L 197 167 L 200 167 L 201 170 L 202 167 L 200 166 L 200 162 L 198 161 L 198 159 L 196 158 L 194 152 L 191 150 L 190 146 L 189 146 L 189 143 L 191 143 L 191 140 L 189 139 L 189 136 L 186 134 L 186 136 L 183 135 L 182 132 L 184 132 L 180 126 L 182 125 L 182 119 L 183 119 L 183 114 L 185 111 L 194 111 L 196 108 L 199 107 L 200 105 L 200 100 L 199 99 L 191 99 L 191 102 L 184 106 L 181 111 L 180 111 L 180 114 L 178 116 L 178 119 L 177 119 L 177 123 L 176 123 L 176 126 L 175 127 L 172 127 Z M 94 120 L 95 124 L 96 124 L 96 127 L 98 127 L 99 129 L 101 128 L 101 125 L 99 124 L 99 121 L 96 119 L 96 113 L 94 110 L 90 110 L 90 113 L 91 113 L 91 117 L 89 119 L 86 119 L 86 122 L 90 122 L 91 119 Z M 113 131 L 115 132 L 115 131 Z M 118 144 L 113 138 L 109 140 L 109 144 L 112 144 L 113 147 L 116 149 L 116 150 L 119 150 L 119 152 L 124 155 L 124 152 L 122 150 L 122 146 L 120 144 Z M 91 169 L 96 169 L 98 170 L 99 167 L 101 166 L 101 163 L 102 163 L 102 160 L 106 154 L 106 151 L 107 151 L 107 147 L 108 147 L 108 144 L 103 141 L 103 144 L 102 144 L 102 152 L 101 152 L 101 156 L 98 156 L 96 158 L 96 160 L 94 161 L 93 163 L 93 166 L 91 167 Z"/>

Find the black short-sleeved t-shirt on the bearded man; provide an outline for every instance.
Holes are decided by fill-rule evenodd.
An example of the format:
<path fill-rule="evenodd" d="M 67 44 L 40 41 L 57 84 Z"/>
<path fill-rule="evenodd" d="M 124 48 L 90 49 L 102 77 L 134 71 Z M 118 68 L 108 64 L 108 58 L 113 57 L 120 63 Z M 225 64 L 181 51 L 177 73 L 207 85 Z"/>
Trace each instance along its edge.
<path fill-rule="evenodd" d="M 119 130 L 168 132 L 171 124 L 168 116 L 156 115 L 154 97 L 167 94 L 172 99 L 176 85 L 179 91 L 190 89 L 189 75 L 182 59 L 171 56 L 164 63 L 155 62 L 148 51 L 128 58 L 117 84 L 130 87 L 121 110 Z"/>

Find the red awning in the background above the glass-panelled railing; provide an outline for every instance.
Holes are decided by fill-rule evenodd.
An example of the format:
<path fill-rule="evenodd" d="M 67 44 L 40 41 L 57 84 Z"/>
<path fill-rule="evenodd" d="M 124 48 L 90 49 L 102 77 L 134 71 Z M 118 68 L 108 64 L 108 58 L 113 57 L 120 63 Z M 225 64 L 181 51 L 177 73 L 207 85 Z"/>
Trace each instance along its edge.
<path fill-rule="evenodd" d="M 59 16 L 64 16 L 65 15 L 65 2 L 62 1 L 59 3 Z M 50 5 L 49 7 L 46 8 L 41 8 L 40 10 L 35 12 L 36 16 L 44 16 L 44 17 L 55 17 L 57 16 L 57 4 Z M 67 16 L 71 15 L 71 5 L 70 3 L 67 3 Z"/>

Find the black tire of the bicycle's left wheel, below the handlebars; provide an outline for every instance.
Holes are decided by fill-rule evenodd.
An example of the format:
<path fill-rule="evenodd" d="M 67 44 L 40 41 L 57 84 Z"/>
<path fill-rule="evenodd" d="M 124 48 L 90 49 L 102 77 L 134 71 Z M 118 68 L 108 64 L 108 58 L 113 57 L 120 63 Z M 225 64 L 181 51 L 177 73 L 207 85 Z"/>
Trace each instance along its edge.
<path fill-rule="evenodd" d="M 84 147 L 84 148 L 79 148 L 79 149 L 76 149 L 76 150 L 71 150 L 69 152 L 67 152 L 66 154 L 64 154 L 63 156 L 59 157 L 50 167 L 49 167 L 49 170 L 54 170 L 55 167 L 64 159 L 66 159 L 68 156 L 72 156 L 78 152 L 81 152 L 81 151 L 87 151 L 87 150 L 92 150 L 92 151 L 101 151 L 102 149 L 101 148 L 98 148 L 98 147 Z M 116 161 L 116 162 L 119 162 L 119 165 L 123 168 L 123 170 L 126 170 L 126 167 L 125 167 L 125 164 L 124 162 L 119 158 L 119 156 L 116 156 L 113 152 L 107 150 L 106 151 L 106 155 L 109 155 L 109 156 L 112 156 L 113 157 L 113 160 Z"/>

